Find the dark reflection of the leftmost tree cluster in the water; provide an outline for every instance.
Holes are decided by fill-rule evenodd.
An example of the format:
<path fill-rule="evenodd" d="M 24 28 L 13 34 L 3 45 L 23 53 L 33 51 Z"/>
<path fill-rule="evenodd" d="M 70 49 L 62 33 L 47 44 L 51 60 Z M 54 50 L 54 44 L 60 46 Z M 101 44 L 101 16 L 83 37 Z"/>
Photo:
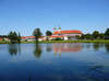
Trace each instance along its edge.
<path fill-rule="evenodd" d="M 16 56 L 17 53 L 21 54 L 21 44 L 9 44 L 9 54 Z"/>

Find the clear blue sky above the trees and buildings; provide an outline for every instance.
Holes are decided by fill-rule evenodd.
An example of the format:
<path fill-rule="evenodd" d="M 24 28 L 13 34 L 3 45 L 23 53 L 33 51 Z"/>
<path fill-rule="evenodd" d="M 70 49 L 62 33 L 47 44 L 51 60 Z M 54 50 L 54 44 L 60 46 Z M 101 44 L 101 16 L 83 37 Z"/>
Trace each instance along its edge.
<path fill-rule="evenodd" d="M 45 33 L 59 26 L 104 33 L 109 27 L 109 0 L 0 0 L 0 35 L 16 31 L 29 36 L 37 27 Z"/>

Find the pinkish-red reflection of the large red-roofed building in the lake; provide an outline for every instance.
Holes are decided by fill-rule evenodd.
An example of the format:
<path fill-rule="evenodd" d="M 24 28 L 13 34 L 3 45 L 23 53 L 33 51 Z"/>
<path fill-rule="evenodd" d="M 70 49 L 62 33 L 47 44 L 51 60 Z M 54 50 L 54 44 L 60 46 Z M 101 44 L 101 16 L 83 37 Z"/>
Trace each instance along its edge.
<path fill-rule="evenodd" d="M 53 51 L 55 51 L 55 56 L 57 56 L 57 54 L 61 53 L 77 53 L 82 50 L 82 46 L 78 43 L 74 43 L 74 44 L 53 44 Z"/>

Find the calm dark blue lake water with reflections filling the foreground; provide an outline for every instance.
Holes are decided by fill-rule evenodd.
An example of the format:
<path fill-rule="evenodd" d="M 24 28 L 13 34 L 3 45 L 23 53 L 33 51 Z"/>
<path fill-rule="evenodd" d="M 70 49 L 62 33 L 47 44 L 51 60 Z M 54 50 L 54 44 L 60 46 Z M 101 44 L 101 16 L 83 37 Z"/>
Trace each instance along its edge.
<path fill-rule="evenodd" d="M 0 81 L 109 81 L 109 44 L 2 44 Z"/>

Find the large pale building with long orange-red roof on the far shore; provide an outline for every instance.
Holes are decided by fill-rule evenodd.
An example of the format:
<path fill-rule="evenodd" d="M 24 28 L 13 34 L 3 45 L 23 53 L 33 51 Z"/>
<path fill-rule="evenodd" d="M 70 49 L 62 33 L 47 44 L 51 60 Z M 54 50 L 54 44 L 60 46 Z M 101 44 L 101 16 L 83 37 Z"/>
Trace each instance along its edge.
<path fill-rule="evenodd" d="M 74 31 L 74 30 L 71 30 L 71 31 L 55 31 L 52 36 L 49 38 L 49 39 L 55 39 L 57 37 L 60 37 L 64 40 L 68 40 L 68 39 L 76 39 L 76 36 L 82 36 L 82 32 L 81 31 Z"/>

